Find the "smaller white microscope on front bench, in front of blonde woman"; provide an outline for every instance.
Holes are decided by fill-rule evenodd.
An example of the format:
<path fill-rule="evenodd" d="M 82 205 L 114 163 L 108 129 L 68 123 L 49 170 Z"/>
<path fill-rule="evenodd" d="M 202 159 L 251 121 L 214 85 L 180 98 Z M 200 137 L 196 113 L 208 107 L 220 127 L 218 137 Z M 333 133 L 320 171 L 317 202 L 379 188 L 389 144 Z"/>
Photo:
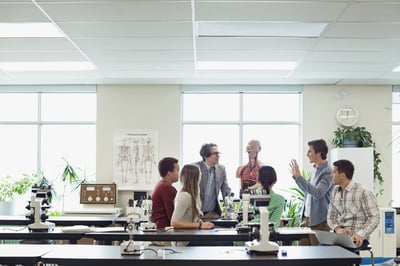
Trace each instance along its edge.
<path fill-rule="evenodd" d="M 136 243 L 133 240 L 133 232 L 137 228 L 141 220 L 140 209 L 132 209 L 130 213 L 127 213 L 128 233 L 129 240 L 124 240 L 121 243 L 121 255 L 140 255 L 143 250 L 143 245 Z"/>

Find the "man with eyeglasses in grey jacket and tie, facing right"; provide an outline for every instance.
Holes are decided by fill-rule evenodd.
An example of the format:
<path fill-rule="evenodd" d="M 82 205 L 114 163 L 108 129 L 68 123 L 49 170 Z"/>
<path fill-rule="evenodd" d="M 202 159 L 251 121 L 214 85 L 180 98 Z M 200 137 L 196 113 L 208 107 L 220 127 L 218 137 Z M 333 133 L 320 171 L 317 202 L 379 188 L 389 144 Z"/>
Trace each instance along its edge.
<path fill-rule="evenodd" d="M 221 216 L 221 208 L 218 204 L 219 192 L 222 193 L 223 199 L 231 194 L 225 166 L 219 164 L 220 154 L 216 144 L 205 143 L 200 149 L 203 160 L 195 163 L 201 171 L 200 199 L 204 218 L 219 218 Z"/>

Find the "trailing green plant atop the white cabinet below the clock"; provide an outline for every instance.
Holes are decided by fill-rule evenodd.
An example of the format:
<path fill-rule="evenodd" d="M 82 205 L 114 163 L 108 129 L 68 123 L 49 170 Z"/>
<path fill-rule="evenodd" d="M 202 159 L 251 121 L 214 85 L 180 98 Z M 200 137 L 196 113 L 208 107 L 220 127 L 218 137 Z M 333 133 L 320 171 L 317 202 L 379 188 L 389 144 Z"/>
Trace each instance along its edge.
<path fill-rule="evenodd" d="M 382 162 L 381 154 L 376 151 L 375 142 L 372 139 L 372 134 L 365 127 L 344 127 L 337 128 L 334 132 L 335 137 L 332 139 L 332 144 L 336 148 L 350 147 L 347 146 L 347 140 L 356 141 L 355 146 L 351 147 L 373 147 L 374 149 L 374 181 L 381 186 L 383 177 L 379 170 L 379 165 Z M 354 145 L 354 144 L 353 144 Z M 378 191 L 378 194 L 383 194 L 383 188 Z"/>

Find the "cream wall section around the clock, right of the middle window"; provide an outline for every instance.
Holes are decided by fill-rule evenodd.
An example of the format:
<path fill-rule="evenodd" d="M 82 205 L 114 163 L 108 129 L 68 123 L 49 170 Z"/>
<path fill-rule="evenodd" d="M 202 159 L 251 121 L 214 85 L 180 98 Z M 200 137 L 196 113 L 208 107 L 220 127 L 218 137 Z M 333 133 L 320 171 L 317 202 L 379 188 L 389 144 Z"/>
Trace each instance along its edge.
<path fill-rule="evenodd" d="M 360 113 L 358 126 L 364 126 L 371 132 L 381 153 L 380 170 L 385 182 L 384 195 L 378 196 L 378 200 L 381 207 L 388 207 L 392 199 L 392 152 L 389 146 L 392 139 L 392 87 L 320 85 L 304 86 L 303 89 L 304 167 L 309 167 L 307 141 L 323 138 L 333 148 L 333 131 L 338 127 L 336 111 L 341 106 L 351 105 Z M 337 98 L 338 92 L 343 92 L 345 96 Z"/>

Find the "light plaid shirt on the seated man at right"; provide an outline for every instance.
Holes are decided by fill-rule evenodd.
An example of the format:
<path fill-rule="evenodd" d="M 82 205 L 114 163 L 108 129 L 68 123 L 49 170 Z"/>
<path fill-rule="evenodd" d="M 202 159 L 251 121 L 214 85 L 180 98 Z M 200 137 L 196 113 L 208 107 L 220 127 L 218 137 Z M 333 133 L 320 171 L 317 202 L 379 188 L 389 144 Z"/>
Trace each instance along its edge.
<path fill-rule="evenodd" d="M 371 191 L 352 181 L 343 191 L 340 186 L 335 186 L 328 209 L 330 228 L 340 226 L 350 230 L 352 234 L 368 239 L 379 220 L 378 203 Z"/>

